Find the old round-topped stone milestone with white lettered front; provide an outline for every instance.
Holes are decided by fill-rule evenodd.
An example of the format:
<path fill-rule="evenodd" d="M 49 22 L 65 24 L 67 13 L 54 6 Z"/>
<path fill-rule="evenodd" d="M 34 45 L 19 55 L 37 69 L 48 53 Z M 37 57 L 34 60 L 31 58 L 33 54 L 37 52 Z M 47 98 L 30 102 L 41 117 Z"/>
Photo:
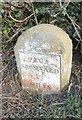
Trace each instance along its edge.
<path fill-rule="evenodd" d="M 40 24 L 26 30 L 14 53 L 23 88 L 58 93 L 69 83 L 72 41 L 61 28 Z"/>

